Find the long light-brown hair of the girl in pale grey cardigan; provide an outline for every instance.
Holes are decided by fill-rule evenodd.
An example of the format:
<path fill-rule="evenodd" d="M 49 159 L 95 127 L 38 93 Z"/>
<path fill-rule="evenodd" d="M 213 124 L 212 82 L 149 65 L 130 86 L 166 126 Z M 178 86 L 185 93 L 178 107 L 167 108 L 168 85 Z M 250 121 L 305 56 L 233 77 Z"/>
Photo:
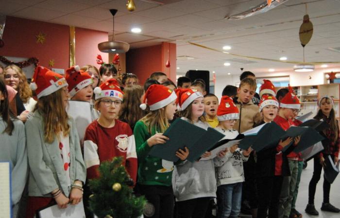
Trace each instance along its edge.
<path fill-rule="evenodd" d="M 45 141 L 52 143 L 59 133 L 69 134 L 68 114 L 63 106 L 63 89 L 39 98 L 34 111 L 37 110 L 43 117 Z"/>

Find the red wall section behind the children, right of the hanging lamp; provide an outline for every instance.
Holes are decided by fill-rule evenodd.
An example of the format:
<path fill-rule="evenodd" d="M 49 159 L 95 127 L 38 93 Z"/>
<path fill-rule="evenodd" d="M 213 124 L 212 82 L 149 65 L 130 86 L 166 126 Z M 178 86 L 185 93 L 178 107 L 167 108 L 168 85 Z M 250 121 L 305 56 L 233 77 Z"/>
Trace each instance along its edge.
<path fill-rule="evenodd" d="M 170 68 L 167 68 L 165 64 L 169 57 Z M 176 44 L 163 42 L 157 46 L 130 49 L 126 53 L 126 72 L 136 74 L 140 83 L 144 84 L 156 71 L 164 72 L 176 83 Z"/>

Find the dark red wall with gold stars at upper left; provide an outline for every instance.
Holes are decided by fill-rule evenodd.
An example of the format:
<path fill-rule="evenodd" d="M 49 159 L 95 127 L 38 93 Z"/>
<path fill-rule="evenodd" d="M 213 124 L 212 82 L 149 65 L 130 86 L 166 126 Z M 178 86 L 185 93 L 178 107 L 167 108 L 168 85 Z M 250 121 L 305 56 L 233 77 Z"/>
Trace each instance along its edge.
<path fill-rule="evenodd" d="M 39 31 L 46 34 L 44 44 L 36 43 Z M 108 54 L 98 50 L 98 43 L 107 41 L 107 32 L 76 28 L 75 57 L 76 64 L 83 66 L 92 64 L 97 67 L 97 54 L 102 55 L 104 62 Z M 69 26 L 22 19 L 7 16 L 2 40 L 5 46 L 0 48 L 0 55 L 9 57 L 39 59 L 40 65 L 49 67 L 49 61 L 54 59 L 54 68 L 69 67 Z"/>

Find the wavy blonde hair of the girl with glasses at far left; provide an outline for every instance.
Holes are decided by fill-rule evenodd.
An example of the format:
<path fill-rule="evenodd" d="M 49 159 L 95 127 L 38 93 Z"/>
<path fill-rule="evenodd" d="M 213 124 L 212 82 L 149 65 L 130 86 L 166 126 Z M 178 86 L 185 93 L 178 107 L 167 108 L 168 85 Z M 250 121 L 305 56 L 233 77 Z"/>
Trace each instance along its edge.
<path fill-rule="evenodd" d="M 11 65 L 8 65 L 4 69 L 4 71 L 3 71 L 4 76 L 6 75 L 6 71 L 8 69 L 14 70 L 17 73 L 17 75 L 19 76 L 19 84 L 18 84 L 18 87 L 17 87 L 17 92 L 19 93 L 21 101 L 23 103 L 27 103 L 28 100 L 30 99 L 30 97 L 32 97 L 32 90 L 30 89 L 30 86 L 28 85 L 25 73 L 17 65 L 11 64 Z"/>

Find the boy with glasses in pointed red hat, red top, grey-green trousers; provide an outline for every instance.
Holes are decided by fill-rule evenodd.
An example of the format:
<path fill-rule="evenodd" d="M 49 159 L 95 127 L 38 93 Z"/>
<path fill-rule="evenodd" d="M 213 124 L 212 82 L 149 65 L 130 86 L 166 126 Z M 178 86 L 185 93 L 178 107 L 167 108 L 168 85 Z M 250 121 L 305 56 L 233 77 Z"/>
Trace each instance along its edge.
<path fill-rule="evenodd" d="M 284 130 L 289 129 L 294 125 L 291 120 L 294 114 L 300 109 L 300 101 L 293 93 L 292 88 L 289 86 L 289 92 L 280 101 L 280 110 L 274 122 L 281 126 Z M 300 136 L 294 138 L 294 146 L 300 141 Z M 288 161 L 287 161 L 288 158 Z M 276 165 L 282 165 L 280 171 L 275 168 L 275 175 L 282 174 L 284 177 L 282 189 L 279 200 L 279 218 L 289 217 L 291 202 L 293 199 L 293 192 L 296 186 L 296 178 L 298 171 L 298 154 L 291 152 L 287 157 L 280 152 L 275 157 Z M 288 169 L 287 169 L 288 167 Z"/>

